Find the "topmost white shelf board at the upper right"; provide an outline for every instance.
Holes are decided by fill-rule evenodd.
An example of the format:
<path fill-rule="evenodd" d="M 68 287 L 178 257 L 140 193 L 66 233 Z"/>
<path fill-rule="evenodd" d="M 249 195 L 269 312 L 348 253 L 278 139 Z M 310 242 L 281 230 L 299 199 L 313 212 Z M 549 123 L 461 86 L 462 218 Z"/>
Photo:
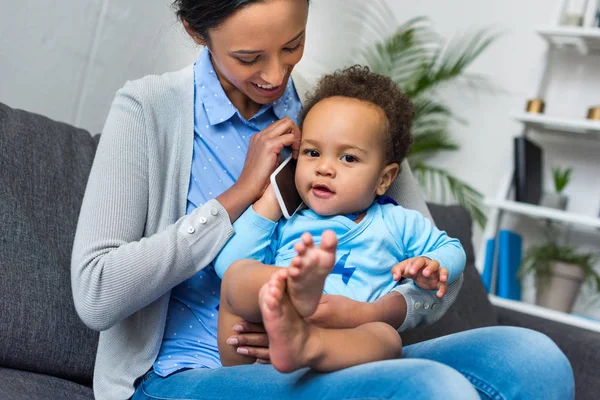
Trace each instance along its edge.
<path fill-rule="evenodd" d="M 582 54 L 600 54 L 600 28 L 544 26 L 537 33 L 557 48 L 575 47 Z"/>

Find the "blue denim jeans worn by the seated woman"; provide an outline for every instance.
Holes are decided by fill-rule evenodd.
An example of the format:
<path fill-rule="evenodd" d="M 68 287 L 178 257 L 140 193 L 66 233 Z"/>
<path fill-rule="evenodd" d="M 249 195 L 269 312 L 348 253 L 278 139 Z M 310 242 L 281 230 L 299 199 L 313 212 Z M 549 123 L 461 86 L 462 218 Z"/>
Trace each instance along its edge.
<path fill-rule="evenodd" d="M 147 373 L 142 399 L 544 399 L 575 398 L 569 361 L 547 336 L 489 327 L 407 346 L 399 360 L 331 373 L 281 374 L 270 365 Z"/>

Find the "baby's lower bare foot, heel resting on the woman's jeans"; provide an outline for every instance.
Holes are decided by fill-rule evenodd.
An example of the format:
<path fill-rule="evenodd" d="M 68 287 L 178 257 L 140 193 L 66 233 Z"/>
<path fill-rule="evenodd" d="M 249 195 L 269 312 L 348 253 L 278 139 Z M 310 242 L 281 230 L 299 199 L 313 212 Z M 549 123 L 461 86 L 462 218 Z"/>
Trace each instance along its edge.
<path fill-rule="evenodd" d="M 315 358 L 315 327 L 302 318 L 286 293 L 288 271 L 271 275 L 258 294 L 263 324 L 269 335 L 271 363 L 280 372 L 292 372 L 310 366 Z"/>

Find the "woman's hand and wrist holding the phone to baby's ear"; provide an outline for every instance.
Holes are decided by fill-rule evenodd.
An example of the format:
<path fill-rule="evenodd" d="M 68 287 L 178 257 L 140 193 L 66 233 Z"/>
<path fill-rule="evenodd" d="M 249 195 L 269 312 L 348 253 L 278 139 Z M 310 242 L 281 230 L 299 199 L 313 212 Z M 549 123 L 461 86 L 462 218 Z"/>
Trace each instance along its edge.
<path fill-rule="evenodd" d="M 250 138 L 244 169 L 239 179 L 217 201 L 227 210 L 231 222 L 258 200 L 269 185 L 271 173 L 280 163 L 279 153 L 290 146 L 294 157 L 300 148 L 300 128 L 285 117 Z"/>

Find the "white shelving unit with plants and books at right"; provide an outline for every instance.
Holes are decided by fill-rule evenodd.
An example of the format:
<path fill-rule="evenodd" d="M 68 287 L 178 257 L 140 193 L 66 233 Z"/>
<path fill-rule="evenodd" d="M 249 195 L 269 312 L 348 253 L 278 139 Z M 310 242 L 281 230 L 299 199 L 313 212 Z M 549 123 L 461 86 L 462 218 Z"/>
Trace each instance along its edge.
<path fill-rule="evenodd" d="M 562 0 L 555 13 L 555 25 L 539 27 L 536 29 L 536 32 L 548 42 L 548 51 L 562 51 L 576 48 L 581 54 L 586 56 L 600 55 L 600 28 L 592 27 L 597 6 L 598 4 L 595 1 L 588 2 L 588 8 L 584 18 L 584 27 L 561 26 L 560 24 L 563 20 L 563 15 L 567 9 L 567 0 Z M 550 58 L 547 60 L 549 61 Z M 538 96 L 541 97 L 544 97 L 546 85 L 549 83 L 545 79 L 549 67 L 549 64 L 545 65 L 545 71 L 540 79 Z M 591 121 L 584 117 L 564 118 L 560 116 L 532 114 L 527 112 L 512 113 L 511 117 L 523 124 L 523 134 L 525 136 L 530 136 L 533 131 L 536 134 L 560 134 L 566 136 L 569 140 L 591 139 L 600 141 L 600 121 Z M 540 138 L 543 139 L 543 135 L 541 135 Z M 488 223 L 482 235 L 479 254 L 476 258 L 476 266 L 480 273 L 482 273 L 484 269 L 483 263 L 485 262 L 487 242 L 492 238 L 496 238 L 500 229 L 502 217 L 506 214 L 516 214 L 539 220 L 557 221 L 569 226 L 577 227 L 580 230 L 589 230 L 596 234 L 600 234 L 600 218 L 597 216 L 561 211 L 510 200 L 513 175 L 514 172 L 511 169 L 507 172 L 500 190 L 498 191 L 498 195 L 495 198 L 486 198 L 484 201 L 485 205 L 489 207 L 490 213 L 488 216 Z M 496 241 L 496 250 L 494 254 L 497 254 L 497 252 L 498 247 Z M 494 290 L 496 286 L 497 269 L 497 260 L 495 260 L 492 271 L 492 292 L 489 296 L 493 304 L 600 332 L 600 322 L 550 310 L 533 304 L 497 297 Z"/>

